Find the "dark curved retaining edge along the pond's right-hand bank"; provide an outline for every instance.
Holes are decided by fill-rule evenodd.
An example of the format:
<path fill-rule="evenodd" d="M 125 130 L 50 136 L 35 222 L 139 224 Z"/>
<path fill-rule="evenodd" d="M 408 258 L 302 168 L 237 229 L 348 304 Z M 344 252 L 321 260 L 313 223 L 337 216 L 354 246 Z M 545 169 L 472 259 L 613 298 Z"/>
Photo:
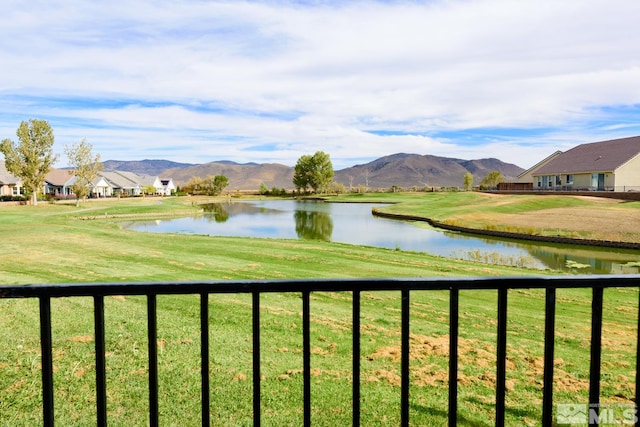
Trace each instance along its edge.
<path fill-rule="evenodd" d="M 426 217 L 421 217 L 416 215 L 393 214 L 388 212 L 381 212 L 377 209 L 373 209 L 371 213 L 374 216 L 379 216 L 382 218 L 399 219 L 404 221 L 421 221 L 421 222 L 428 223 L 432 227 L 441 228 L 444 230 L 459 231 L 463 233 L 478 234 L 482 236 L 504 237 L 509 239 L 530 240 L 530 241 L 547 242 L 547 243 L 563 243 L 563 244 L 569 244 L 569 245 L 598 246 L 598 247 L 607 247 L 607 248 L 616 248 L 616 249 L 640 249 L 640 243 L 637 243 L 637 242 L 616 242 L 612 240 L 577 239 L 573 237 L 541 236 L 541 235 L 535 235 L 535 234 L 514 233 L 510 231 L 484 230 L 479 228 L 462 227 L 459 225 L 446 224 L 441 221 L 436 221 L 431 218 L 426 218 Z"/>

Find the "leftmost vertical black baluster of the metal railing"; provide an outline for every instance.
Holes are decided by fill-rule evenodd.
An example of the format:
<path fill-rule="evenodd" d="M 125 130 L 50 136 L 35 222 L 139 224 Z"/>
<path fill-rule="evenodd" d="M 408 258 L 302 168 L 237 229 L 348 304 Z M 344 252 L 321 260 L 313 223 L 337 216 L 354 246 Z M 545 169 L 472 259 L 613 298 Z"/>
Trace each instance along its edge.
<path fill-rule="evenodd" d="M 42 353 L 43 425 L 53 426 L 53 356 L 51 340 L 51 298 L 40 297 L 40 352 Z"/>

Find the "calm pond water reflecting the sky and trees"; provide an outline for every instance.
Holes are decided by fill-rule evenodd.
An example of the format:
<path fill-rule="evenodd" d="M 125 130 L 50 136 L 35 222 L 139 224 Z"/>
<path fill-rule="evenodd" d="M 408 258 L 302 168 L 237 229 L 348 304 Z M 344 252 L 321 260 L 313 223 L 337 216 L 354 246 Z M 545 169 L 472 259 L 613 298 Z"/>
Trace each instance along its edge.
<path fill-rule="evenodd" d="M 640 273 L 640 251 L 477 237 L 374 217 L 374 206 L 381 205 L 292 200 L 216 203 L 206 205 L 203 216 L 135 221 L 122 227 L 154 233 L 316 239 L 581 274 Z"/>

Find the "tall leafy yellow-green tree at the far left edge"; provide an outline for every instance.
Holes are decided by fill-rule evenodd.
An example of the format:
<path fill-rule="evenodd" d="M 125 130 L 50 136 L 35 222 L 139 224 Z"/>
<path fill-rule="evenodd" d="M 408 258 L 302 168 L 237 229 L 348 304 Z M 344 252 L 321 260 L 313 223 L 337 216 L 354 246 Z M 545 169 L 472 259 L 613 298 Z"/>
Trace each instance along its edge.
<path fill-rule="evenodd" d="M 18 143 L 6 138 L 0 143 L 5 166 L 9 173 L 19 177 L 31 192 L 33 204 L 38 204 L 45 176 L 58 157 L 53 154 L 53 129 L 46 120 L 23 121 L 16 131 Z"/>

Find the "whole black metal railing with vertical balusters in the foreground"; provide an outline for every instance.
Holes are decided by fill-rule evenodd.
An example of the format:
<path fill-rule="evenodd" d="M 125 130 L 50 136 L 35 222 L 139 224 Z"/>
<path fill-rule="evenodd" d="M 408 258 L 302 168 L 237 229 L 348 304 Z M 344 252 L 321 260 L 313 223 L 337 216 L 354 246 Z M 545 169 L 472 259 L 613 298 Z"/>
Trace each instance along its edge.
<path fill-rule="evenodd" d="M 507 302 L 509 290 L 545 290 L 544 373 L 541 425 L 554 425 L 554 337 L 556 290 L 587 288 L 592 290 L 591 345 L 589 370 L 589 405 L 597 408 L 600 401 L 600 365 L 602 341 L 603 290 L 605 288 L 640 288 L 640 276 L 554 276 L 518 278 L 464 278 L 464 279 L 347 279 L 347 280 L 281 280 L 281 281 L 220 281 L 202 283 L 111 283 L 70 285 L 0 286 L 0 298 L 38 298 L 40 303 L 40 345 L 42 352 L 42 396 L 45 425 L 54 424 L 54 384 L 51 333 L 51 299 L 59 297 L 93 297 L 96 366 L 96 421 L 107 424 L 107 385 L 105 380 L 105 325 L 104 297 L 110 295 L 144 295 L 147 298 L 147 334 L 149 369 L 149 420 L 158 425 L 158 354 L 156 328 L 156 297 L 158 295 L 200 295 L 201 336 L 201 409 L 202 425 L 210 423 L 209 386 L 209 295 L 252 295 L 253 340 L 253 422 L 260 425 L 260 295 L 264 293 L 299 293 L 302 295 L 302 359 L 303 359 L 303 414 L 304 424 L 311 425 L 311 351 L 310 351 L 310 295 L 314 292 L 351 292 L 352 298 L 352 410 L 353 425 L 360 424 L 360 293 L 400 291 L 401 305 L 401 386 L 400 420 L 409 425 L 410 399 L 410 300 L 413 291 L 449 291 L 449 394 L 448 423 L 457 423 L 458 408 L 458 324 L 459 292 L 467 290 L 497 291 L 497 344 L 496 344 L 496 426 L 505 421 L 505 384 L 507 361 Z M 640 295 L 640 293 L 639 293 Z M 640 303 L 639 303 L 640 304 Z M 640 319 L 640 316 L 638 317 Z M 640 326 L 640 320 L 639 320 Z M 638 328 L 640 342 L 640 327 Z M 640 390 L 640 348 L 636 347 L 635 402 Z M 596 409 L 597 411 L 597 409 Z M 635 425 L 640 423 L 637 420 Z M 596 425 L 598 418 L 590 419 Z"/>

